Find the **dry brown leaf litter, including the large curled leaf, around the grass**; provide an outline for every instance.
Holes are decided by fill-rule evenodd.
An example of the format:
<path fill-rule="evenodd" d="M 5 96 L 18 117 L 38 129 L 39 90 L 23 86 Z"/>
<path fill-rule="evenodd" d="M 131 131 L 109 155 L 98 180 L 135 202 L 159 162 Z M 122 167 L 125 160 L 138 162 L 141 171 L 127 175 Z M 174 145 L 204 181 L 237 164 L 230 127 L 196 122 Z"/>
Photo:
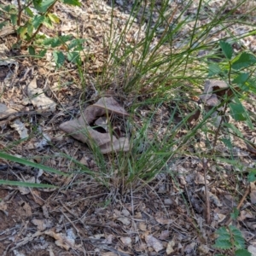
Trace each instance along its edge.
<path fill-rule="evenodd" d="M 124 9 L 123 3 L 123 1 L 119 1 L 119 9 Z M 217 12 L 221 1 L 211 4 L 211 8 Z M 103 46 L 106 36 L 104 29 L 108 28 L 112 22 L 110 16 L 112 9 L 108 4 L 97 1 L 96 5 L 88 1 L 88 3 L 84 3 L 84 6 L 87 8 L 85 14 L 80 9 L 67 9 L 61 4 L 56 6 L 56 11 L 63 20 L 63 26 L 59 28 L 63 33 L 73 32 L 74 28 L 77 27 L 75 22 L 71 22 L 70 17 L 78 18 L 84 24 L 84 34 L 88 38 L 86 56 L 90 56 L 89 61 L 86 62 L 85 57 L 84 61 L 89 73 L 92 74 L 102 70 L 105 59 L 108 57 Z M 129 8 L 131 5 L 128 5 Z M 178 6 L 178 8 L 182 8 L 182 6 Z M 118 21 L 114 23 L 114 26 L 120 32 L 129 15 L 119 11 L 119 9 L 115 8 L 113 15 Z M 189 11 L 195 13 L 195 9 L 196 3 L 192 5 Z M 137 18 L 139 19 L 139 16 Z M 203 21 L 200 20 L 200 22 Z M 134 30 L 126 35 L 126 41 L 129 44 L 137 40 L 135 35 L 138 26 L 136 24 L 132 26 Z M 230 29 L 235 28 L 230 26 Z M 247 28 L 241 27 L 240 29 Z M 76 35 L 74 34 L 74 36 Z M 143 35 L 139 36 L 143 37 Z M 9 37 L 11 39 L 11 36 Z M 177 38 L 174 48 L 181 47 L 189 39 L 186 37 L 185 31 L 181 33 L 179 38 L 183 39 Z M 247 38 L 241 40 L 242 44 L 255 50 L 253 48 L 255 44 L 249 44 Z M 5 50 L 9 51 L 5 45 L 4 47 Z M 169 49 L 163 48 L 163 53 L 168 52 Z M 5 54 L 4 52 L 3 56 Z M 84 104 L 85 107 L 80 108 L 77 94 L 79 89 L 75 84 L 69 83 L 68 88 L 63 86 L 60 90 L 47 89 L 44 83 L 45 79 L 49 80 L 49 84 L 55 84 L 59 75 L 63 81 L 68 82 L 68 76 L 70 78 L 75 77 L 72 68 L 68 75 L 66 73 L 54 73 L 49 77 L 49 71 L 54 70 L 52 64 L 38 61 L 40 72 L 36 78 L 33 75 L 26 76 L 30 73 L 29 71 L 26 73 L 26 67 L 31 67 L 31 63 L 26 58 L 19 62 L 11 60 L 11 62 L 3 61 L 1 63 L 3 64 L 0 65 L 1 82 L 4 86 L 9 87 L 8 92 L 1 91 L 3 93 L 1 104 L 4 105 L 4 111 L 13 109 L 8 111 L 15 113 L 20 112 L 20 110 L 27 112 L 38 111 L 38 109 L 43 108 L 43 110 L 51 112 L 47 116 L 34 112 L 29 117 L 23 114 L 19 117 L 29 134 L 34 132 L 34 127 L 40 128 L 34 132 L 32 138 L 28 138 L 24 143 L 17 143 L 17 146 L 12 149 L 14 154 L 31 158 L 35 162 L 44 163 L 47 166 L 58 166 L 62 172 L 73 170 L 73 163 L 63 156 L 63 154 L 68 154 L 74 160 L 88 166 L 93 172 L 98 172 L 93 155 L 84 144 L 89 143 L 88 137 L 84 137 L 84 133 L 74 136 L 75 138 L 81 137 L 83 143 L 79 143 L 69 136 L 63 137 L 59 125 L 65 126 L 64 131 L 67 126 L 63 124 L 66 122 L 74 122 L 71 123 L 74 124 L 71 125 L 72 131 L 67 131 L 71 136 L 77 132 L 76 125 L 78 124 L 83 128 L 84 126 L 90 127 L 90 122 L 94 122 L 93 127 L 100 126 L 104 132 L 95 132 L 92 127 L 89 128 L 89 131 L 94 139 L 100 138 L 98 145 L 100 148 L 102 147 L 102 153 L 112 152 L 113 149 L 118 151 L 119 149 L 126 148 L 128 150 L 130 148 L 126 137 L 123 137 L 123 140 L 120 140 L 122 137 L 116 137 L 118 143 L 113 144 L 111 141 L 109 144 L 108 132 L 111 132 L 111 129 L 109 130 L 108 127 L 112 122 L 110 115 L 121 115 L 122 119 L 127 116 L 125 109 L 121 109 L 121 105 L 113 97 L 102 97 L 99 102 Z M 18 82 L 20 82 L 20 87 L 14 86 Z M 213 84 L 215 82 L 210 81 Z M 227 92 L 226 87 L 218 86 L 216 88 L 216 84 L 210 85 L 207 91 L 205 87 L 203 92 L 205 97 L 201 100 L 204 102 L 206 111 L 208 108 L 216 106 L 220 100 L 219 97 L 223 96 L 223 94 L 218 94 L 218 91 L 222 91 L 221 88 L 223 88 L 224 93 Z M 88 95 L 90 95 L 90 89 L 86 89 Z M 26 100 L 27 97 L 31 102 Z M 206 99 L 206 97 L 208 98 Z M 56 100 L 58 104 L 56 104 Z M 114 103 L 115 108 L 106 103 L 108 100 Z M 59 104 L 60 102 L 61 104 Z M 65 108 L 59 108 L 60 105 L 65 106 Z M 160 128 L 164 129 L 164 127 L 158 126 L 159 124 L 166 125 L 163 113 L 167 113 L 168 117 L 170 111 L 168 107 L 163 106 L 155 115 L 155 122 L 151 127 L 153 132 L 159 132 Z M 252 108 L 255 113 L 255 106 L 250 105 L 248 108 Z M 85 109 L 84 113 L 81 113 L 80 109 Z M 150 113 L 150 109 L 147 108 L 139 111 L 145 114 Z M 98 113 L 101 114 L 98 116 Z M 196 123 L 201 114 L 201 112 L 196 112 L 193 116 L 193 122 Z M 79 115 L 79 119 L 75 119 Z M 9 143 L 18 142 L 20 134 L 10 129 L 17 120 L 16 118 L 6 120 L 3 115 L 0 115 L 0 118 L 1 121 L 5 121 L 2 127 L 4 137 L 1 137 L 0 147 L 5 148 Z M 67 119 L 72 119 L 72 121 L 67 121 Z M 232 122 L 234 123 L 234 120 L 231 119 Z M 241 132 L 244 131 L 242 125 L 238 128 Z M 40 142 L 42 134 L 47 134 L 44 137 L 47 137 L 48 143 L 40 143 L 40 146 L 37 146 L 38 144 L 35 143 Z M 107 141 L 103 140 L 105 137 L 107 137 Z M 247 137 L 253 147 L 255 134 L 250 132 Z M 196 152 L 198 154 L 204 150 L 211 150 L 207 144 L 209 139 L 211 141 L 211 137 L 206 137 L 203 134 L 197 138 L 195 148 L 197 147 Z M 28 146 L 29 144 L 30 146 Z M 239 149 L 247 152 L 247 145 L 243 145 L 239 140 L 236 141 L 236 144 Z M 122 148 L 120 145 L 125 145 L 125 147 Z M 226 157 L 227 153 L 230 153 L 230 148 L 226 144 L 217 146 L 220 156 Z M 189 148 L 189 150 L 194 150 L 194 148 Z M 251 153 L 253 150 L 249 151 Z M 238 163 L 242 162 L 245 163 L 245 166 L 254 167 L 255 154 L 236 154 L 234 157 Z M 37 176 L 38 172 L 33 168 L 24 168 L 24 166 L 12 164 L 6 160 L 1 160 L 0 168 L 3 179 L 13 178 L 28 181 Z M 0 195 L 3 199 L 0 210 L 4 220 L 0 225 L 0 236 L 1 241 L 3 241 L 0 251 L 3 255 L 10 255 L 9 253 L 12 252 L 17 255 L 19 255 L 18 253 L 20 255 L 39 255 L 45 251 L 51 253 L 50 255 L 60 255 L 60 252 L 62 255 L 84 255 L 84 253 L 99 255 L 165 255 L 165 253 L 166 255 L 214 255 L 216 250 L 211 246 L 216 238 L 213 234 L 214 230 L 218 229 L 229 218 L 233 207 L 237 207 L 236 197 L 241 198 L 241 195 L 237 193 L 237 180 L 234 172 L 247 172 L 247 169 L 234 166 L 228 161 L 211 161 L 205 180 L 201 161 L 187 153 L 175 164 L 168 164 L 165 175 L 158 175 L 143 190 L 131 190 L 125 195 L 120 194 L 119 191 L 114 191 L 110 196 L 110 201 L 109 190 L 96 183 L 96 180 L 87 175 L 86 172 L 78 172 L 74 174 L 73 178 L 59 177 L 44 172 L 40 176 L 41 180 L 60 186 L 59 191 L 23 190 L 20 187 L 15 189 L 9 186 L 3 186 L 0 189 Z M 75 183 L 76 180 L 79 183 Z M 241 181 L 241 183 L 243 182 Z M 211 207 L 211 223 L 209 225 L 205 223 L 204 216 L 206 184 L 209 189 Z M 245 186 L 241 184 L 241 191 L 242 188 Z M 255 203 L 255 195 L 253 194 L 255 183 L 251 183 L 250 189 L 250 200 L 242 202 L 238 224 L 243 225 L 243 234 L 250 244 L 248 250 L 253 253 L 255 252 L 253 248 L 256 247 L 255 236 L 252 235 L 256 229 L 253 218 L 255 216 L 255 206 L 253 206 Z M 201 235 L 198 235 L 199 233 Z M 67 253 L 67 250 L 68 254 L 64 254 Z"/>

